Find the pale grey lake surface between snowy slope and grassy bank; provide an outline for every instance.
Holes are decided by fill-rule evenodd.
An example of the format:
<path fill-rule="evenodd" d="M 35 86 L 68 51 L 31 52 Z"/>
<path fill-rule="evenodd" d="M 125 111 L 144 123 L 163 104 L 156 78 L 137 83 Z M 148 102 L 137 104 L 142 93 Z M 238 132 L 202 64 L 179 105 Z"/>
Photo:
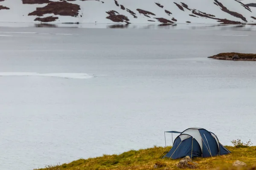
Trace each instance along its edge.
<path fill-rule="evenodd" d="M 254 27 L 159 28 L 1 27 L 0 170 L 164 146 L 188 127 L 255 144 L 256 62 L 207 58 L 256 53 Z"/>

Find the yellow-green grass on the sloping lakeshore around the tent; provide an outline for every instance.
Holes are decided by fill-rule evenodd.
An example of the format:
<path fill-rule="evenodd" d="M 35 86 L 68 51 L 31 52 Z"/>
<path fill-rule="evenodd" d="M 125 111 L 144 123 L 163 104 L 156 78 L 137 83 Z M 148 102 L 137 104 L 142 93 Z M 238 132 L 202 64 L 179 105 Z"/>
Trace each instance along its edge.
<path fill-rule="evenodd" d="M 170 150 L 165 147 L 152 147 L 141 150 L 130 150 L 119 155 L 103 155 L 90 159 L 79 159 L 68 164 L 47 166 L 43 169 L 35 170 L 153 170 L 154 164 L 161 164 L 164 170 L 177 170 L 177 163 L 180 159 L 162 159 L 162 156 Z M 195 158 L 200 170 L 227 169 L 236 160 L 245 162 L 249 167 L 256 163 L 256 147 L 227 147 L 232 153 L 224 156 L 210 158 Z M 163 153 L 163 154 L 162 154 Z M 161 155 L 162 154 L 162 155 Z"/>

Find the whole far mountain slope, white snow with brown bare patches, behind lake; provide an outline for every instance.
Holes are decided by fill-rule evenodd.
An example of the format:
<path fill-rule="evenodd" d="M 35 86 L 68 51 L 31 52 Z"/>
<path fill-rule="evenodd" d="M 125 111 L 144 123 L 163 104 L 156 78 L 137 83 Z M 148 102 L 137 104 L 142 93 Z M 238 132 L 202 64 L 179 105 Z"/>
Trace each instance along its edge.
<path fill-rule="evenodd" d="M 253 0 L 0 0 L 0 22 L 256 23 Z"/>

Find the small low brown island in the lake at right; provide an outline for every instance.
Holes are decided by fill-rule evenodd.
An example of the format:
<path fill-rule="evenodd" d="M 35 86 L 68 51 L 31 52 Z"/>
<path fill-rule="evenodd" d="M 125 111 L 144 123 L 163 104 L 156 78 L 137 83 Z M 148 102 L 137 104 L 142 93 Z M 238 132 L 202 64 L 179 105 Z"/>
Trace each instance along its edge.
<path fill-rule="evenodd" d="M 256 61 L 256 54 L 246 53 L 220 53 L 208 58 L 223 59 L 223 60 L 238 60 L 238 61 Z"/>

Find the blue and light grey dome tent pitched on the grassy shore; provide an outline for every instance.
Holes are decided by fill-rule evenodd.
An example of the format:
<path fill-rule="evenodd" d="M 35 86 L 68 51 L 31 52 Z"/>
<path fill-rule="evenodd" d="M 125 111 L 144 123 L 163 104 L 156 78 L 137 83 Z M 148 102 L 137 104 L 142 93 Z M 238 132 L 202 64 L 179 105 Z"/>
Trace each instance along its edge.
<path fill-rule="evenodd" d="M 191 127 L 180 133 L 172 149 L 163 156 L 178 159 L 185 156 L 210 157 L 231 153 L 219 141 L 217 136 L 200 127 Z"/>

